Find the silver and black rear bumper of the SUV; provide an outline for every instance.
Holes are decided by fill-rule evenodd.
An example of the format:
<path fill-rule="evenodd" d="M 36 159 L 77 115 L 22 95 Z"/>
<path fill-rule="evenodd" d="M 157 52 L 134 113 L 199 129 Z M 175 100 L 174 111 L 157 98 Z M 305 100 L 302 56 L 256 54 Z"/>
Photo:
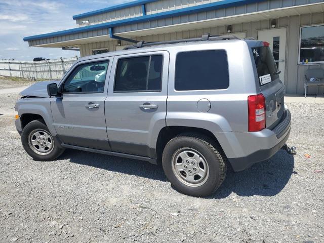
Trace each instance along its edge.
<path fill-rule="evenodd" d="M 237 157 L 227 156 L 233 170 L 235 172 L 243 171 L 260 161 L 272 157 L 285 145 L 289 138 L 290 130 L 291 114 L 286 109 L 284 118 L 273 130 L 264 129 L 260 132 L 236 134 L 236 139 L 240 143 L 239 150 L 241 154 L 246 154 Z"/>

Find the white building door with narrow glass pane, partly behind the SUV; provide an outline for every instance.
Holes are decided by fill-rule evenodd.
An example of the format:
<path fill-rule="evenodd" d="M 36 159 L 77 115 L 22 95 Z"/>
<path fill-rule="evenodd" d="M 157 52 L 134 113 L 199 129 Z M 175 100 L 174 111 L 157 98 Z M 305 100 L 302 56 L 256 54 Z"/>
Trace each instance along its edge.
<path fill-rule="evenodd" d="M 285 68 L 286 68 L 286 28 L 267 29 L 258 31 L 259 41 L 270 43 L 274 61 L 281 73 L 280 80 L 285 84 Z"/>

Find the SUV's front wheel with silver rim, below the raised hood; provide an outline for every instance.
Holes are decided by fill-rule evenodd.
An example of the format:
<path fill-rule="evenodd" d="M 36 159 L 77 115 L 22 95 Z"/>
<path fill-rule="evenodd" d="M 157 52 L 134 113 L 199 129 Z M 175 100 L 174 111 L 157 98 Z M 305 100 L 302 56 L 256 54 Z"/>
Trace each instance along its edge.
<path fill-rule="evenodd" d="M 35 160 L 54 160 L 64 151 L 40 120 L 33 120 L 24 127 L 21 142 L 26 152 Z"/>

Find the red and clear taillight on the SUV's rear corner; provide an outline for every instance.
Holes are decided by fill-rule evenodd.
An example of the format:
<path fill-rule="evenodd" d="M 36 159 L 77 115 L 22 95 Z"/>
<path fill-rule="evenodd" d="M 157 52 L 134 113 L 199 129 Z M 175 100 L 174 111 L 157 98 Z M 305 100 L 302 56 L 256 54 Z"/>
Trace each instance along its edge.
<path fill-rule="evenodd" d="M 248 97 L 249 132 L 265 129 L 265 99 L 262 94 Z"/>

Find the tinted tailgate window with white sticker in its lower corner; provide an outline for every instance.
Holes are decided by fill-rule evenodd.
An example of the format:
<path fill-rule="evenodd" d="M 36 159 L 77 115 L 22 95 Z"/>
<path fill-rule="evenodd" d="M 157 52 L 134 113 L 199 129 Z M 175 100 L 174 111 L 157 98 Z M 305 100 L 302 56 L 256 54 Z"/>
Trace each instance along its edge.
<path fill-rule="evenodd" d="M 277 65 L 269 47 L 254 47 L 252 53 L 261 86 L 279 78 Z"/>

